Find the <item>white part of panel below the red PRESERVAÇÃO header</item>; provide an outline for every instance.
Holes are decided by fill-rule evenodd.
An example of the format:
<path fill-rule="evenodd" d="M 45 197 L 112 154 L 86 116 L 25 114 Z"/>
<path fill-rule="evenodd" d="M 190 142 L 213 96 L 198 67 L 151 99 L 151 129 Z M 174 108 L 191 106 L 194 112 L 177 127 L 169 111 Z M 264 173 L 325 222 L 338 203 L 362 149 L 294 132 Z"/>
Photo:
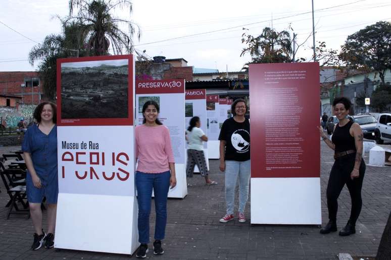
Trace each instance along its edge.
<path fill-rule="evenodd" d="M 185 171 L 185 140 L 184 140 L 184 93 L 136 94 L 136 124 L 142 124 L 142 101 L 148 97 L 159 101 L 159 120 L 170 131 L 172 151 L 175 158 L 176 187 L 170 189 L 168 198 L 184 198 L 187 195 Z"/>

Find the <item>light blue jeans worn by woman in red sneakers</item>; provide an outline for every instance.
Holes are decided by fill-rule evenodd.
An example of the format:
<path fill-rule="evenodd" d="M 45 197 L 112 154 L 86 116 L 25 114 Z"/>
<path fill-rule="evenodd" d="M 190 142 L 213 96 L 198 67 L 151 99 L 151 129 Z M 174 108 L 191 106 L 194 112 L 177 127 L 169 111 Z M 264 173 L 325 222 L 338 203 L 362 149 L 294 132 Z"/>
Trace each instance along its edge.
<path fill-rule="evenodd" d="M 245 213 L 247 199 L 249 198 L 250 160 L 225 161 L 225 202 L 227 214 L 233 214 L 235 202 L 236 180 L 239 176 L 239 212 Z"/>

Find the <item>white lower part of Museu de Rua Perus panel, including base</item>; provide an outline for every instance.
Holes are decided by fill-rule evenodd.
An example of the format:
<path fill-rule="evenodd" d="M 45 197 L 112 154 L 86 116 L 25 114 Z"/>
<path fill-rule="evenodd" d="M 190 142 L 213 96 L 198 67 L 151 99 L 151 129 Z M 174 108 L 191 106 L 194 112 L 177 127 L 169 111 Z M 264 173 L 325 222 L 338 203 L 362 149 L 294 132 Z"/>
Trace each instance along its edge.
<path fill-rule="evenodd" d="M 134 126 L 58 126 L 57 131 L 55 247 L 131 254 L 139 245 Z"/>

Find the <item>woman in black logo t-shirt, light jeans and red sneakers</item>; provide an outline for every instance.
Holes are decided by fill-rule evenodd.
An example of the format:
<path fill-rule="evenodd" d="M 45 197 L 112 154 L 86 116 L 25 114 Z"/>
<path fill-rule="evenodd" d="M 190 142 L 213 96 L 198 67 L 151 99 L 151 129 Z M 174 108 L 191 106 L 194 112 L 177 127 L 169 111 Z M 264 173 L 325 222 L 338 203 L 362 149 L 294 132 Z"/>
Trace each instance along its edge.
<path fill-rule="evenodd" d="M 220 219 L 226 223 L 234 219 L 233 206 L 236 181 L 239 179 L 238 221 L 245 223 L 245 206 L 250 183 L 250 121 L 245 117 L 245 100 L 236 99 L 231 106 L 233 117 L 224 121 L 220 130 L 220 170 L 225 171 L 225 201 L 227 214 Z"/>

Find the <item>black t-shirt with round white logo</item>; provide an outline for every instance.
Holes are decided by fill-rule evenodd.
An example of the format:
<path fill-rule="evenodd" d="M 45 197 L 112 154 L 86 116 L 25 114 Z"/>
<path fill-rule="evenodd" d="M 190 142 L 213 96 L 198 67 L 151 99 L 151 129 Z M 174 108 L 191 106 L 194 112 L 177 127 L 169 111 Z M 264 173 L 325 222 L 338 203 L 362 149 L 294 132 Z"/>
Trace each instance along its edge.
<path fill-rule="evenodd" d="M 224 121 L 221 126 L 219 140 L 226 142 L 225 160 L 250 160 L 250 121 L 236 122 L 233 117 Z"/>

